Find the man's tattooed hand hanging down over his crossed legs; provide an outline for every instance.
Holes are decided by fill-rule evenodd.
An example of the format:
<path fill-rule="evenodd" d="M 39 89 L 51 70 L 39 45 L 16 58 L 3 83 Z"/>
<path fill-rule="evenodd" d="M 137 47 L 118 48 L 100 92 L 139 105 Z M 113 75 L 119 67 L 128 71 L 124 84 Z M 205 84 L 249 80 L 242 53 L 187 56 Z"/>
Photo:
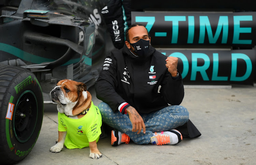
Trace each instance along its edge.
<path fill-rule="evenodd" d="M 140 116 L 140 114 L 136 111 L 135 108 L 133 108 L 132 106 L 128 106 L 126 108 L 126 111 L 129 115 L 129 118 L 131 120 L 132 123 L 132 132 L 137 132 L 137 134 L 139 134 L 141 132 L 141 130 L 143 129 L 143 133 L 146 133 L 146 127 L 144 124 L 144 121 L 142 119 L 142 117 Z"/>

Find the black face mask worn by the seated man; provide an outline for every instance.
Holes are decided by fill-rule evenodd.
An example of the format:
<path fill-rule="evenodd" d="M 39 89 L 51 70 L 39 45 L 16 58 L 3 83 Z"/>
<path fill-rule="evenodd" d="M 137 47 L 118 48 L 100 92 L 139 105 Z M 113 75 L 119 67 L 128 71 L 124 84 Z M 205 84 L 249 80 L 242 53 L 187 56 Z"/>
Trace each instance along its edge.
<path fill-rule="evenodd" d="M 130 43 L 130 45 L 134 48 L 134 52 L 138 54 L 139 57 L 145 57 L 150 49 L 150 40 L 140 39 L 136 43 Z"/>

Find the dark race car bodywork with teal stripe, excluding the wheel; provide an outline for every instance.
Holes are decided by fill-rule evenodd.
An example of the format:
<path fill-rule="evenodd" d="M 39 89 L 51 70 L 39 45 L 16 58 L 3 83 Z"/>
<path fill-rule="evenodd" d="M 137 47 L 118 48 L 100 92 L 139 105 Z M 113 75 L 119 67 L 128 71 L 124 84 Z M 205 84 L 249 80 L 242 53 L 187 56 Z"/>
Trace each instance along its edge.
<path fill-rule="evenodd" d="M 66 78 L 90 87 L 101 69 L 92 65 L 105 56 L 108 35 L 101 9 L 106 2 L 1 2 L 0 63 L 30 69 L 45 93 Z"/>

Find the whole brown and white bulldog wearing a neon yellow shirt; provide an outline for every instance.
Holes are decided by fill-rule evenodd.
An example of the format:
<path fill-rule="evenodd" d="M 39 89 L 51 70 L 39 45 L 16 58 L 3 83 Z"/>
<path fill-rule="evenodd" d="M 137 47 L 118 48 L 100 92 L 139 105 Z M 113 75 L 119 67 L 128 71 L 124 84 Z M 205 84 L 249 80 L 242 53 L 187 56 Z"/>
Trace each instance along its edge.
<path fill-rule="evenodd" d="M 101 134 L 101 114 L 91 101 L 91 94 L 84 83 L 61 80 L 50 92 L 51 99 L 57 103 L 58 139 L 51 152 L 60 152 L 63 145 L 68 149 L 90 148 L 89 157 L 100 158 L 97 148 Z M 68 129 L 67 129 L 68 128 Z"/>

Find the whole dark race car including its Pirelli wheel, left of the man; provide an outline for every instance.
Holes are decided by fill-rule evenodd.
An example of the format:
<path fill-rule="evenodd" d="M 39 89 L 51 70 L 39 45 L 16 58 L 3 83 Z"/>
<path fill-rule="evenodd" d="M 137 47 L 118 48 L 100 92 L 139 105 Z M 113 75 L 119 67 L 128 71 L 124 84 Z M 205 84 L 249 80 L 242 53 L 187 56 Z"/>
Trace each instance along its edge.
<path fill-rule="evenodd" d="M 114 48 L 101 18 L 106 2 L 0 2 L 1 163 L 16 163 L 32 150 L 43 104 L 52 103 L 49 92 L 59 80 L 94 85 L 102 57 Z"/>

